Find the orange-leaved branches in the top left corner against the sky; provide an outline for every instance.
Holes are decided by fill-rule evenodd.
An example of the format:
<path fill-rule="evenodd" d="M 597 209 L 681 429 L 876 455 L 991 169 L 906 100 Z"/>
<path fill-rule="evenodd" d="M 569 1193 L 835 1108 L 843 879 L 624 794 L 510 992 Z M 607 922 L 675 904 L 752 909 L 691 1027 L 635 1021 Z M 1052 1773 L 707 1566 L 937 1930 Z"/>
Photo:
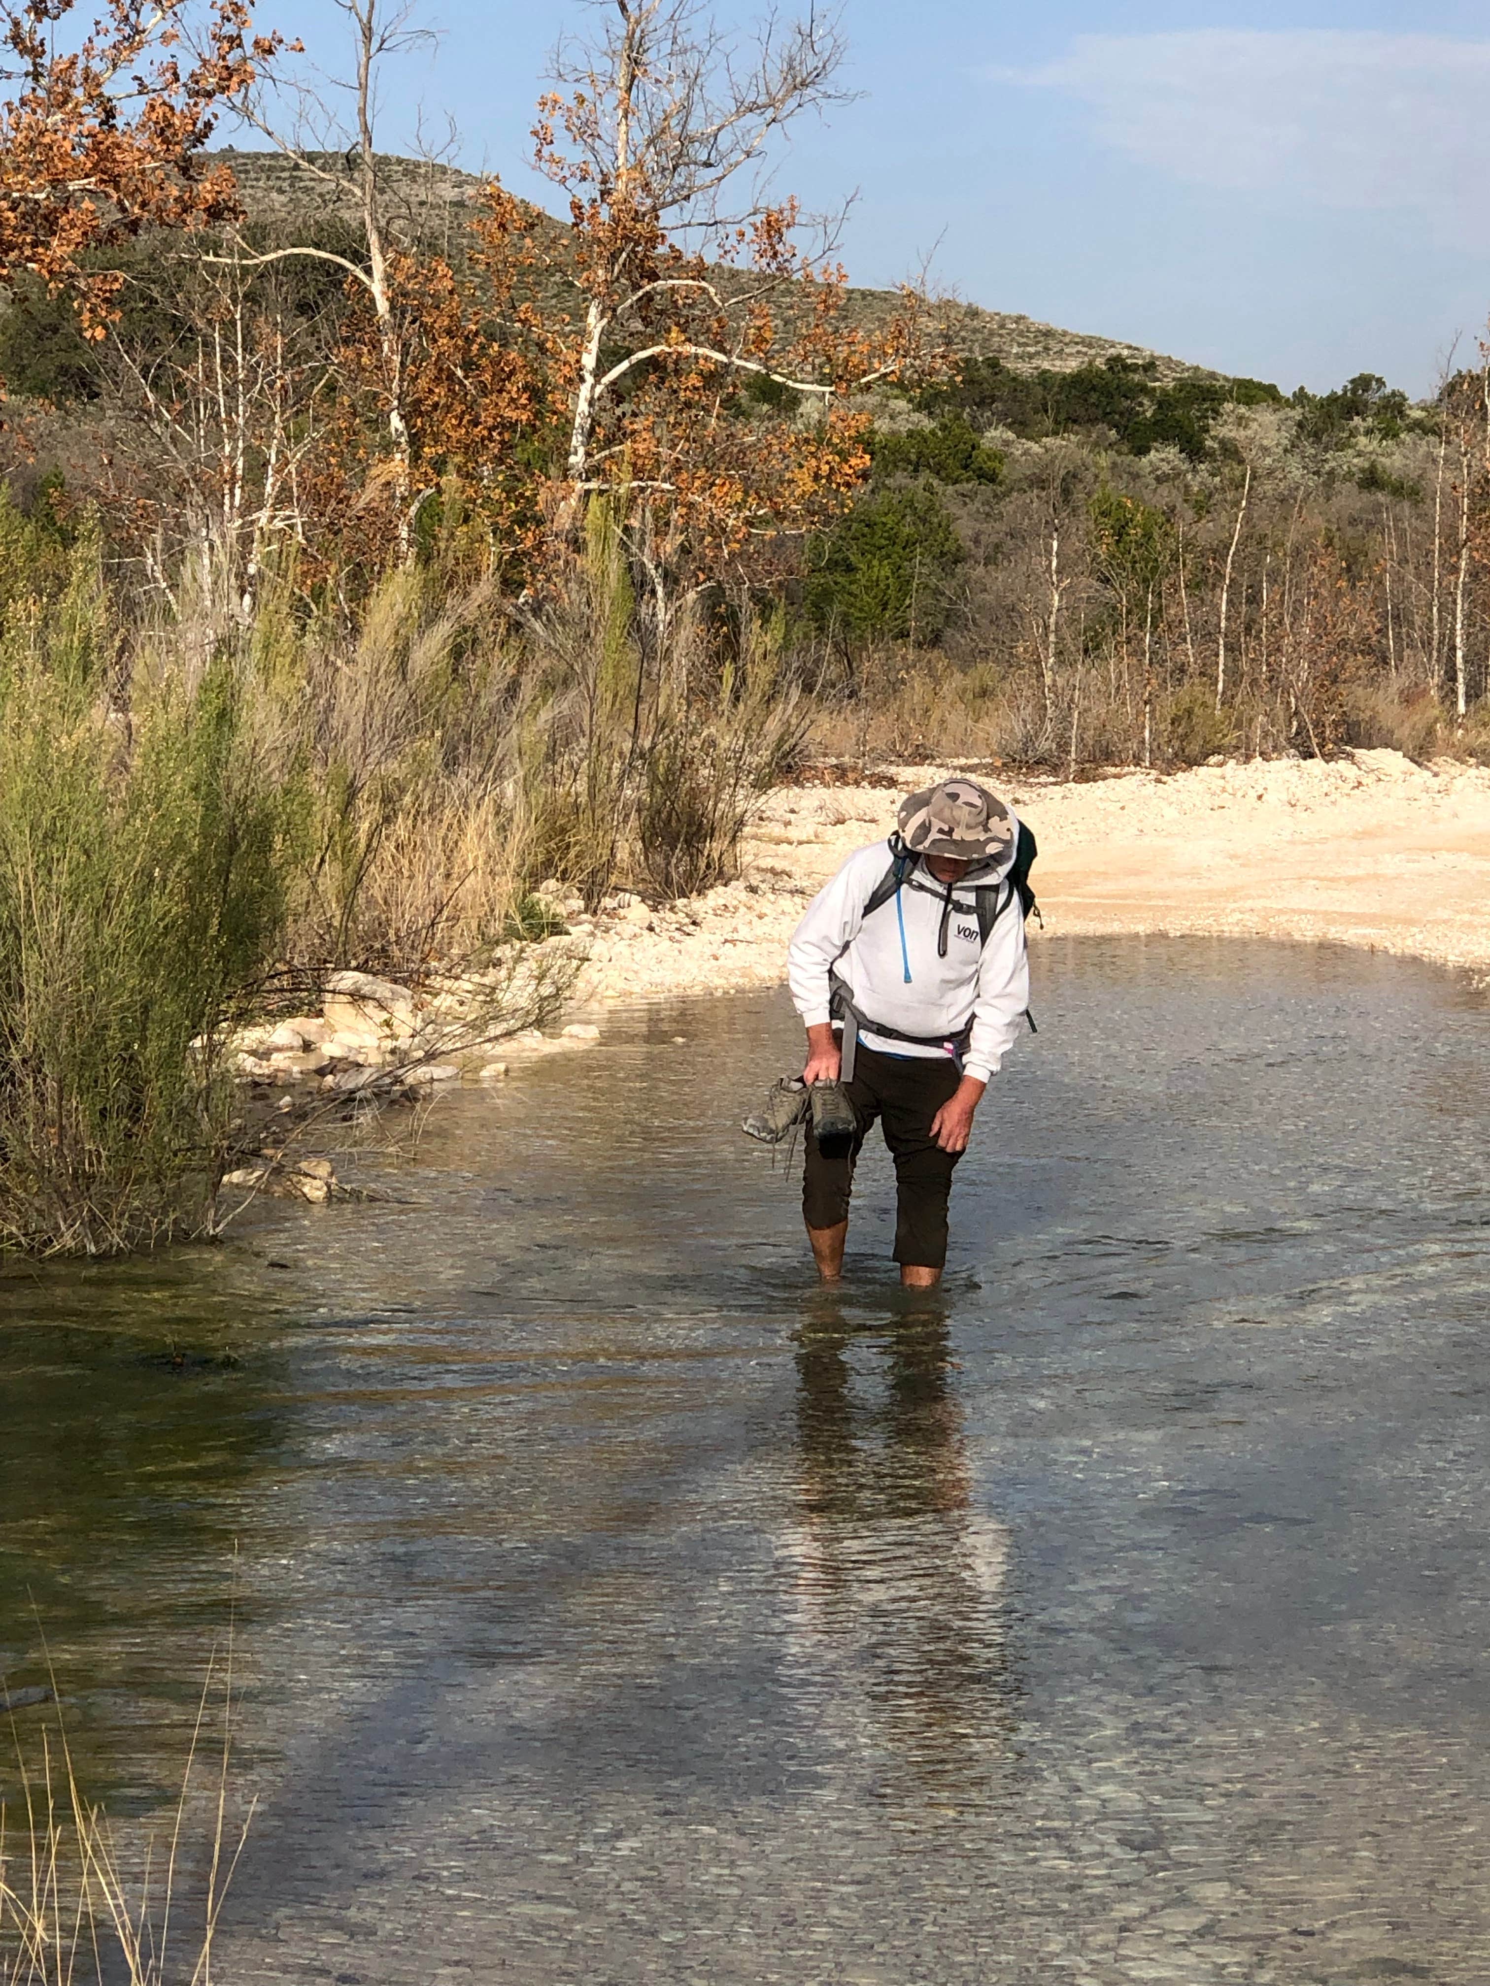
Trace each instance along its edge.
<path fill-rule="evenodd" d="M 56 54 L 74 0 L 0 4 L 14 95 L 0 103 L 0 282 L 22 270 L 68 292 L 99 340 L 123 278 L 91 266 L 145 226 L 236 214 L 232 175 L 201 153 L 282 40 L 254 36 L 242 0 L 211 0 L 195 46 L 191 0 L 111 0 Z"/>

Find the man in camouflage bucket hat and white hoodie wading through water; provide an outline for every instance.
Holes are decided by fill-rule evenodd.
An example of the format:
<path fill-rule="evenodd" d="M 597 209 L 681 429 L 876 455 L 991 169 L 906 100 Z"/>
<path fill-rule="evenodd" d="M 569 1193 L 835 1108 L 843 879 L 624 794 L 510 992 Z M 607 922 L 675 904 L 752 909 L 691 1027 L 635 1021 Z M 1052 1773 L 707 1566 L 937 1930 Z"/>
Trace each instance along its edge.
<path fill-rule="evenodd" d="M 952 779 L 914 792 L 900 834 L 852 854 L 797 925 L 789 979 L 811 1100 L 803 1213 L 824 1283 L 842 1275 L 854 1160 L 876 1118 L 896 1166 L 900 1281 L 942 1281 L 952 1174 L 1029 1015 L 1033 854 L 1001 800 Z"/>

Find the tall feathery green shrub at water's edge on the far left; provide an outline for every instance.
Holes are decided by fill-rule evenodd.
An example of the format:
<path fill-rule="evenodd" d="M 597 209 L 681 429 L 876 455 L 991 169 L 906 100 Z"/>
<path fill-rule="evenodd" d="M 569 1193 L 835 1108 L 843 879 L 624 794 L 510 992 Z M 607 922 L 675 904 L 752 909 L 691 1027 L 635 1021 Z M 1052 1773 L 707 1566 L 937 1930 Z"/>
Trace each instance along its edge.
<path fill-rule="evenodd" d="M 195 695 L 141 697 L 125 725 L 12 636 L 0 1245 L 101 1255 L 211 1229 L 224 1033 L 274 957 L 294 844 L 294 800 L 260 777 L 226 665 Z"/>

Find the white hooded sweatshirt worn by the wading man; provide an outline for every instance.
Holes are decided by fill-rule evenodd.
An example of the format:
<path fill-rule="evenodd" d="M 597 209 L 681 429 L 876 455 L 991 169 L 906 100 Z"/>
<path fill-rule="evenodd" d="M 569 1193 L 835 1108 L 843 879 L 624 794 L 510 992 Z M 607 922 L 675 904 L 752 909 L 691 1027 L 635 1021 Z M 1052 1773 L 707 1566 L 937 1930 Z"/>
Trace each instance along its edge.
<path fill-rule="evenodd" d="M 908 1035 L 952 1037 L 971 1017 L 964 1070 L 987 1082 L 1023 1027 L 1029 1007 L 1025 920 L 1013 900 L 1013 884 L 1007 882 L 1015 846 L 1017 836 L 1007 854 L 952 884 L 946 957 L 938 955 L 938 935 L 948 886 L 924 862 L 916 862 L 898 898 L 864 920 L 864 906 L 894 862 L 894 852 L 888 842 L 874 842 L 848 856 L 832 882 L 807 906 L 791 939 L 787 977 L 805 1025 L 817 1027 L 828 1019 L 828 971 L 836 965 L 860 1013 L 886 1027 L 900 1027 Z M 991 882 L 999 884 L 999 916 L 987 943 L 979 945 L 973 890 Z M 946 1047 L 892 1041 L 870 1029 L 862 1029 L 858 1039 L 884 1055 L 952 1053 Z"/>

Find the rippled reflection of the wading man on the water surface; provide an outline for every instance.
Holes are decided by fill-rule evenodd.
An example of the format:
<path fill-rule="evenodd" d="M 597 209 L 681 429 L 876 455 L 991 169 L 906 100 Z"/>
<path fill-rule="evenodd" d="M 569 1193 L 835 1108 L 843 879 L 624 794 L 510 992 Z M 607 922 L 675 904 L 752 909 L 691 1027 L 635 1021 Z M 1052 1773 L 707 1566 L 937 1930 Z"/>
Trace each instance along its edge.
<path fill-rule="evenodd" d="M 985 1791 L 1009 1730 L 1007 1531 L 973 1505 L 946 1323 L 815 1331 L 797 1378 L 793 1642 L 822 1736 L 868 1754 L 880 1791 Z"/>

